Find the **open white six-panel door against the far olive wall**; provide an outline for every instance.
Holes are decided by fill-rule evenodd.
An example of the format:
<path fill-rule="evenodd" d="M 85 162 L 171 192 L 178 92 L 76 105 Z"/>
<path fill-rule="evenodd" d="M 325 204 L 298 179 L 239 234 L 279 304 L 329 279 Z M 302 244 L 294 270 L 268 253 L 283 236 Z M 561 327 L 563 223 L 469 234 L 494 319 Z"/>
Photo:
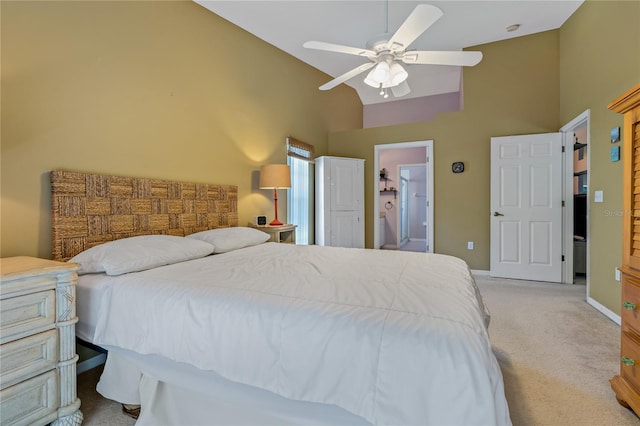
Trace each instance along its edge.
<path fill-rule="evenodd" d="M 491 138 L 493 277 L 562 281 L 561 133 Z"/>

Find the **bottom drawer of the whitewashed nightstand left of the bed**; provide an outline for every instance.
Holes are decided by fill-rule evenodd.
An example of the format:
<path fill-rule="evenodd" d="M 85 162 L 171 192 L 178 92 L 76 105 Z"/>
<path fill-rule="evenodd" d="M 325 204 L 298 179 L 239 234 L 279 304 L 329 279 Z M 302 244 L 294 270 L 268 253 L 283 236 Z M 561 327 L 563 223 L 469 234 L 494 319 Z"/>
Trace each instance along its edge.
<path fill-rule="evenodd" d="M 45 425 L 58 417 L 55 370 L 0 391 L 2 425 Z"/>

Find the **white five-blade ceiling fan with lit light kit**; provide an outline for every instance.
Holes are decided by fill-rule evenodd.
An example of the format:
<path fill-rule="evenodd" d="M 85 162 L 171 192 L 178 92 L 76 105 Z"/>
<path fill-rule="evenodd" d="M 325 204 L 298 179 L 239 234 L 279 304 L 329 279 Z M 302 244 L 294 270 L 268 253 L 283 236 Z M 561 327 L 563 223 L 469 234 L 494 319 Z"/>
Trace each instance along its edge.
<path fill-rule="evenodd" d="M 303 44 L 303 47 L 307 49 L 346 53 L 369 59 L 368 63 L 347 71 L 323 84 L 319 89 L 333 89 L 347 80 L 371 70 L 364 79 L 367 85 L 379 89 L 380 95 L 385 98 L 389 96 L 387 89 L 391 89 L 395 97 L 400 97 L 410 92 L 406 81 L 409 74 L 400 65 L 400 62 L 419 65 L 476 65 L 482 59 L 482 52 L 407 50 L 409 45 L 440 19 L 443 14 L 442 10 L 436 6 L 420 4 L 416 6 L 395 34 L 389 37 L 389 34 L 385 33 L 369 40 L 365 49 L 322 41 L 307 41 Z"/>

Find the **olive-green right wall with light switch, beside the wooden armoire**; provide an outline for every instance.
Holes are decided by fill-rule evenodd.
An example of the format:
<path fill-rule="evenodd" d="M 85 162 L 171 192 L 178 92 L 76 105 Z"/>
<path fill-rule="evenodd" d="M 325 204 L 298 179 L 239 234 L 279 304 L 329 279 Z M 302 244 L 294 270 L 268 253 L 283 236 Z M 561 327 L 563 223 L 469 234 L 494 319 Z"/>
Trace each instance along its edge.
<path fill-rule="evenodd" d="M 622 162 L 610 161 L 609 132 L 622 127 L 622 116 L 607 105 L 640 83 L 640 2 L 587 1 L 560 29 L 560 53 L 561 122 L 591 114 L 590 297 L 620 314 L 614 270 L 622 258 Z M 597 190 L 603 203 L 593 203 Z"/>

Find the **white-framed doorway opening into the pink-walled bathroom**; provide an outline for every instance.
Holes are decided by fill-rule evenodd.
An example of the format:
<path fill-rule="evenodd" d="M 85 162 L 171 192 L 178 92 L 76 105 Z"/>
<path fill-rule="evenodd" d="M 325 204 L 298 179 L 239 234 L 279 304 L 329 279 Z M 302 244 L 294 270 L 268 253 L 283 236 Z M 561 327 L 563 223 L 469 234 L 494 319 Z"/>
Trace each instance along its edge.
<path fill-rule="evenodd" d="M 432 153 L 430 140 L 374 147 L 374 248 L 433 252 Z M 422 176 L 420 190 L 412 189 L 412 175 Z"/>

